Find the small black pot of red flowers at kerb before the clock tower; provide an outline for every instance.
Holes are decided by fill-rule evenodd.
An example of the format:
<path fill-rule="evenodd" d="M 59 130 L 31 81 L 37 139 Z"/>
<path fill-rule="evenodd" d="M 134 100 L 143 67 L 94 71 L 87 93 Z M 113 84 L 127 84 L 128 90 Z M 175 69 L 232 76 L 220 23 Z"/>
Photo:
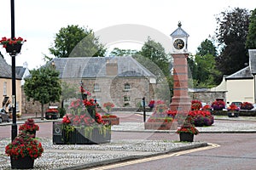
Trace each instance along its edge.
<path fill-rule="evenodd" d="M 197 135 L 199 131 L 193 124 L 186 121 L 180 128 L 177 129 L 176 133 L 179 134 L 179 139 L 181 142 L 193 142 L 194 135 Z"/>

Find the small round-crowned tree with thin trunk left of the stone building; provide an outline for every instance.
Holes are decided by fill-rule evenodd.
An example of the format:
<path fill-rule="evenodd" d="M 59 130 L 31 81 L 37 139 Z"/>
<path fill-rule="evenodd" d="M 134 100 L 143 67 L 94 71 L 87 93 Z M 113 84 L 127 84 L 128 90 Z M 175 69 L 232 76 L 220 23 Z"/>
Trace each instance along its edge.
<path fill-rule="evenodd" d="M 25 78 L 24 91 L 27 100 L 32 99 L 41 104 L 41 119 L 44 120 L 44 104 L 59 101 L 61 97 L 59 72 L 44 66 L 30 73 L 31 77 Z"/>

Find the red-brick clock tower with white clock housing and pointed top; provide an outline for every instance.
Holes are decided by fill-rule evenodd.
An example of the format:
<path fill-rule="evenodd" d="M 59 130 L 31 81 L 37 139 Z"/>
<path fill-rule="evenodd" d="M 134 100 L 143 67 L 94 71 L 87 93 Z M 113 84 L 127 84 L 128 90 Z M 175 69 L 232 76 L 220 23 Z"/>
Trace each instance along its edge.
<path fill-rule="evenodd" d="M 178 22 L 177 29 L 172 32 L 173 57 L 173 96 L 170 105 L 172 111 L 188 113 L 191 99 L 188 94 L 188 37 L 189 34 L 181 28 Z"/>

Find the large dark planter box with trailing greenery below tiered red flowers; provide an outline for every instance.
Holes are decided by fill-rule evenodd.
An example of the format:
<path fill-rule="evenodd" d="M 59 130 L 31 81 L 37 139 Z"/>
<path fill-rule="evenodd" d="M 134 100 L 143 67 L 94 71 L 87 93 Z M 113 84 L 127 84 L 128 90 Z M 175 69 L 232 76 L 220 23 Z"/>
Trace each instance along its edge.
<path fill-rule="evenodd" d="M 53 144 L 103 144 L 111 140 L 111 127 L 74 127 L 67 132 L 66 125 L 53 122 Z"/>

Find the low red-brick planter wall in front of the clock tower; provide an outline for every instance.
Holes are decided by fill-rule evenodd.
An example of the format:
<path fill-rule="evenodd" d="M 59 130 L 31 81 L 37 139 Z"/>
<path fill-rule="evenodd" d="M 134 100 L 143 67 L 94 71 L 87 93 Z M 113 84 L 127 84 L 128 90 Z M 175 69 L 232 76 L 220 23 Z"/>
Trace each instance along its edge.
<path fill-rule="evenodd" d="M 177 122 L 145 122 L 144 127 L 153 130 L 176 130 Z"/>

